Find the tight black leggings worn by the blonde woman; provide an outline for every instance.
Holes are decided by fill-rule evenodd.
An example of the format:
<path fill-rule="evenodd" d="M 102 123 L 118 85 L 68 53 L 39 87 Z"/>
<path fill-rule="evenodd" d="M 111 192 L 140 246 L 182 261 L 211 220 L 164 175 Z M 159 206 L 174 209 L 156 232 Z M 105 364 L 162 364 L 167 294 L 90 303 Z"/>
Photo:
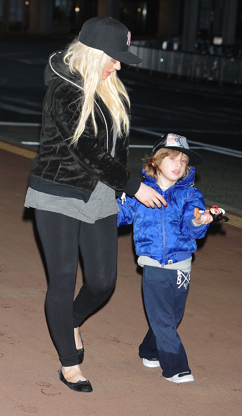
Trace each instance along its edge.
<path fill-rule="evenodd" d="M 67 215 L 35 209 L 49 284 L 46 315 L 63 366 L 78 364 L 74 329 L 101 305 L 117 277 L 117 216 L 85 223 Z M 85 283 L 75 301 L 79 246 Z"/>

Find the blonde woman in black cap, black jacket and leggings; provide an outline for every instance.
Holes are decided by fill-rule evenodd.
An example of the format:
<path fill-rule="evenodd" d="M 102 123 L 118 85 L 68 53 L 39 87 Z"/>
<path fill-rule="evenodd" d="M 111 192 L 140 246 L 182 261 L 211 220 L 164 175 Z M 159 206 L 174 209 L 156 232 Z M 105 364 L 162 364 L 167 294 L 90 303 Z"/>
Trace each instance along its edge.
<path fill-rule="evenodd" d="M 129 43 L 126 26 L 94 17 L 68 50 L 51 54 L 45 69 L 40 152 L 32 161 L 25 206 L 35 208 L 46 258 L 46 315 L 62 364 L 60 380 L 75 391 L 92 391 L 79 366 L 79 326 L 116 282 L 115 191 L 153 208 L 165 204 L 128 171 L 130 102 L 116 71 L 120 61 L 141 62 L 128 52 Z M 73 304 L 79 246 L 85 283 Z"/>

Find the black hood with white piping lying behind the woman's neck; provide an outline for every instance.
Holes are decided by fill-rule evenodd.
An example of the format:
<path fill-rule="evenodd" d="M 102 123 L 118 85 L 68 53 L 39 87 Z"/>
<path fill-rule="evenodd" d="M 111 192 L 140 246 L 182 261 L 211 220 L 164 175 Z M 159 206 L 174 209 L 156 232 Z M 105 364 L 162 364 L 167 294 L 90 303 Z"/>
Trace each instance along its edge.
<path fill-rule="evenodd" d="M 58 79 L 62 77 L 68 79 L 68 81 L 80 84 L 80 80 L 82 79 L 81 75 L 79 74 L 78 76 L 76 72 L 75 74 L 72 74 L 70 72 L 69 66 L 64 63 L 65 53 L 66 50 L 56 51 L 50 54 L 48 64 L 46 65 L 44 70 L 45 85 L 49 85 L 53 79 Z"/>

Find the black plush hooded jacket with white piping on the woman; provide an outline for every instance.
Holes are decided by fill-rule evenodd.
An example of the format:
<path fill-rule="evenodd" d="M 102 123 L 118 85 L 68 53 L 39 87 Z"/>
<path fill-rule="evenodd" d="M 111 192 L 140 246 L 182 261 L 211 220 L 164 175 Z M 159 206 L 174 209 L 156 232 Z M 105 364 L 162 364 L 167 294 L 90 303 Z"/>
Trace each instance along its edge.
<path fill-rule="evenodd" d="M 80 114 L 78 104 L 83 88 L 81 75 L 70 72 L 63 62 L 64 56 L 65 51 L 51 54 L 45 68 L 48 89 L 43 102 L 40 152 L 31 163 L 29 186 L 36 191 L 87 202 L 101 181 L 133 196 L 140 181 L 128 170 L 129 139 L 124 134 L 117 137 L 112 157 L 113 119 L 97 94 L 94 97 L 97 136 L 90 116 L 77 146 L 70 145 Z M 128 104 L 124 104 L 128 109 Z"/>

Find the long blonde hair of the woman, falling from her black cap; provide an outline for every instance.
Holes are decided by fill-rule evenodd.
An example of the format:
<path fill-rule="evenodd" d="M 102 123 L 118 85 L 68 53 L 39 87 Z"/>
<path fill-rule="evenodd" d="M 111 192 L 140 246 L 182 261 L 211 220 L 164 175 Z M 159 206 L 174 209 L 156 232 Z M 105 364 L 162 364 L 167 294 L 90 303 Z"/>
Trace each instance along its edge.
<path fill-rule="evenodd" d="M 127 136 L 130 119 L 123 101 L 125 99 L 129 107 L 130 101 L 126 89 L 117 77 L 116 71 L 111 72 L 109 77 L 102 81 L 102 74 L 104 69 L 110 64 L 111 57 L 101 50 L 83 45 L 76 38 L 68 48 L 64 62 L 69 65 L 72 73 L 80 72 L 83 78 L 81 86 L 84 88 L 84 95 L 79 104 L 80 117 L 70 143 L 74 144 L 74 146 L 77 145 L 80 135 L 85 130 L 90 114 L 95 136 L 97 135 L 97 123 L 94 117 L 94 96 L 96 93 L 102 98 L 116 122 L 118 136 L 121 136 L 121 127 Z"/>

